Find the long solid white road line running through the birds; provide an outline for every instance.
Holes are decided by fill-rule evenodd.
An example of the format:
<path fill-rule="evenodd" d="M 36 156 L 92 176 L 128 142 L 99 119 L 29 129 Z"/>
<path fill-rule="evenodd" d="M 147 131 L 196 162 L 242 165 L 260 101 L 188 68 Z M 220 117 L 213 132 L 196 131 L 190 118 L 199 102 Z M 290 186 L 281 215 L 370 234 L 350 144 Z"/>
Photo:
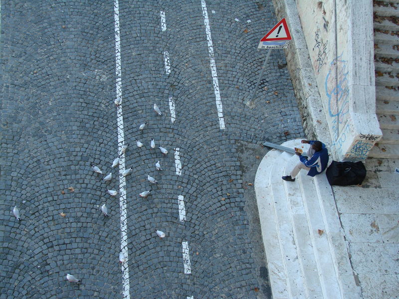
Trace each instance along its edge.
<path fill-rule="evenodd" d="M 122 70 L 121 70 L 121 40 L 119 30 L 119 2 L 114 0 L 114 19 L 115 19 L 115 60 L 116 60 L 116 96 L 122 98 Z M 118 153 L 122 151 L 125 144 L 125 133 L 123 128 L 122 105 L 117 107 L 118 123 Z M 126 180 L 122 175 L 125 170 L 125 153 L 119 159 L 119 208 L 121 214 L 121 252 L 125 256 L 125 262 L 121 264 L 123 277 L 123 299 L 130 299 L 129 282 L 129 256 L 128 256 L 128 234 L 126 217 Z M 116 258 L 116 257 L 115 257 Z"/>

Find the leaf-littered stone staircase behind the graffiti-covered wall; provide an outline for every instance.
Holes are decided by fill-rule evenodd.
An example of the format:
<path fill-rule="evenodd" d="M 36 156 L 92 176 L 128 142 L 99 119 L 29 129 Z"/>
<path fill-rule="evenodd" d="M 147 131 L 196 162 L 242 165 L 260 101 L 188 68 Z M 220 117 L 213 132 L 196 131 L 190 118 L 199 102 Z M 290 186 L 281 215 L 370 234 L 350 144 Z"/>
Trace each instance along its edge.
<path fill-rule="evenodd" d="M 383 138 L 369 157 L 399 158 L 399 0 L 374 1 L 376 112 Z"/>

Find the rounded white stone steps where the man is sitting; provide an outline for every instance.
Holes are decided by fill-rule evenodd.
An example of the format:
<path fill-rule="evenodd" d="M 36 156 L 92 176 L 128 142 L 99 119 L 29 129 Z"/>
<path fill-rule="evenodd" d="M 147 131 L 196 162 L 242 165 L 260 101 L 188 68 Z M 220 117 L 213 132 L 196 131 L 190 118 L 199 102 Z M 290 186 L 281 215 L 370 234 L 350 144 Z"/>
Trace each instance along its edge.
<path fill-rule="evenodd" d="M 300 141 L 282 146 L 299 147 Z M 362 298 L 325 174 L 312 178 L 301 170 L 295 182 L 281 179 L 298 161 L 271 149 L 255 176 L 273 299 Z"/>

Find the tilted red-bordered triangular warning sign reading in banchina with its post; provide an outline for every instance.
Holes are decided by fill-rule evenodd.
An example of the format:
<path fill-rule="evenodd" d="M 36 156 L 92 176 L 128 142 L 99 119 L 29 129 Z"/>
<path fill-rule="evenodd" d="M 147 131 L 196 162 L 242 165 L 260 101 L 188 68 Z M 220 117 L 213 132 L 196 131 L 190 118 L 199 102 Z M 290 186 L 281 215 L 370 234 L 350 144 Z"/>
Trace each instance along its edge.
<path fill-rule="evenodd" d="M 263 72 L 265 70 L 266 63 L 267 60 L 269 59 L 271 50 L 286 49 L 288 47 L 290 40 L 291 40 L 291 34 L 287 26 L 287 21 L 285 20 L 284 17 L 273 28 L 271 28 L 269 32 L 267 32 L 266 35 L 263 36 L 259 41 L 258 49 L 269 49 L 269 51 L 267 52 L 266 59 L 263 63 L 251 99 L 247 102 L 247 105 L 249 107 L 253 106 L 253 101 L 255 99 L 256 92 L 258 90 L 260 78 L 262 78 L 263 76 Z"/>

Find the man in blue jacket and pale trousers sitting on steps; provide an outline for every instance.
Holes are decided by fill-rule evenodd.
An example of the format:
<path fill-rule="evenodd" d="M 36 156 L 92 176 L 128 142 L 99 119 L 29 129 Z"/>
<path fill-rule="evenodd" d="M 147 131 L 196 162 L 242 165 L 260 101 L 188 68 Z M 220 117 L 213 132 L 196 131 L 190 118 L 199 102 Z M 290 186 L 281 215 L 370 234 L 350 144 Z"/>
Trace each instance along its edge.
<path fill-rule="evenodd" d="M 315 176 L 316 174 L 322 173 L 326 169 L 328 164 L 328 151 L 325 146 L 320 141 L 317 140 L 302 140 L 301 143 L 310 144 L 308 149 L 308 156 L 303 156 L 301 153 L 296 152 L 301 160 L 294 169 L 292 169 L 290 175 L 285 175 L 281 177 L 283 180 L 293 182 L 295 181 L 295 176 L 299 173 L 299 170 L 308 170 L 308 175 Z M 309 157 L 309 159 L 308 159 Z"/>

